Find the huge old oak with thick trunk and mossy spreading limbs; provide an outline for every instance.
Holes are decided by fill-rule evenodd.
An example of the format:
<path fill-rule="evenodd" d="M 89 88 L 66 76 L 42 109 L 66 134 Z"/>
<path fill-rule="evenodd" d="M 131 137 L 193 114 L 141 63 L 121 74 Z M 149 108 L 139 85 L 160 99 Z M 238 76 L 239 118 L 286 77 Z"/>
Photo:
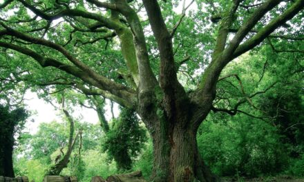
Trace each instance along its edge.
<path fill-rule="evenodd" d="M 192 30 L 180 32 L 183 21 L 189 23 L 186 10 L 193 1 L 181 2 L 182 14 L 171 11 L 172 3 L 180 2 L 6 0 L 0 5 L 0 47 L 31 57 L 50 71 L 54 78 L 47 84 L 68 85 L 135 109 L 153 138 L 153 181 L 216 181 L 198 153 L 196 132 L 211 110 L 237 112 L 237 105 L 235 110 L 213 107 L 220 73 L 266 38 L 303 40 L 298 34 L 303 23 L 292 19 L 303 19 L 304 0 L 196 1 L 198 10 L 188 27 Z M 153 36 L 144 34 L 149 26 Z M 204 31 L 208 41 L 198 37 Z M 187 46 L 193 48 L 187 48 L 181 39 L 191 34 L 193 45 Z M 124 81 L 103 70 L 107 63 L 115 64 L 107 52 L 117 46 L 104 50 L 102 40 L 106 48 L 108 41 L 119 40 L 125 68 L 113 70 Z M 187 52 L 179 53 L 182 50 Z M 6 57 L 36 66 L 15 52 Z M 193 64 L 204 71 L 197 87 L 189 90 L 178 70 Z M 66 76 L 59 77 L 62 72 L 57 70 Z"/>

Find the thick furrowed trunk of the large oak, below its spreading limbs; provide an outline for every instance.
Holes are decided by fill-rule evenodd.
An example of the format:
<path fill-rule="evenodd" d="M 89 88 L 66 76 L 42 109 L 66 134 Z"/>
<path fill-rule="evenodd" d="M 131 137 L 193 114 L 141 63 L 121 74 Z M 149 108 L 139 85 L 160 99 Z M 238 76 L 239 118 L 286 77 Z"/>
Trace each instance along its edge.
<path fill-rule="evenodd" d="M 196 141 L 198 124 L 191 121 L 193 116 L 190 113 L 180 114 L 182 112 L 184 111 L 175 112 L 175 117 L 171 121 L 160 119 L 162 117 L 159 110 L 157 117 L 150 115 L 150 121 L 147 121 L 147 118 L 143 119 L 153 139 L 154 160 L 151 181 L 218 181 L 198 152 Z M 186 117 L 182 117 L 184 115 Z"/>

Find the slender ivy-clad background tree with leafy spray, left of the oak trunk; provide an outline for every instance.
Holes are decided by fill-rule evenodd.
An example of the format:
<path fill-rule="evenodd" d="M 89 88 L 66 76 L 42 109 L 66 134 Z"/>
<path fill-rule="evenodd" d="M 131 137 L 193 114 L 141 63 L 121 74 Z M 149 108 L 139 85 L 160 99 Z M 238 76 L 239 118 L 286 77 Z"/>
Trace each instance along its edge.
<path fill-rule="evenodd" d="M 146 130 L 140 126 L 140 120 L 135 111 L 120 108 L 120 117 L 114 118 L 113 105 L 110 105 L 112 119 L 106 119 L 106 99 L 99 95 L 86 95 L 79 90 L 65 89 L 66 101 L 75 106 L 81 105 L 97 112 L 99 124 L 106 134 L 102 143 L 104 152 L 108 152 L 109 161 L 114 159 L 118 171 L 131 170 L 132 162 L 140 153 L 146 141 Z M 111 126 L 111 127 L 110 127 Z"/>

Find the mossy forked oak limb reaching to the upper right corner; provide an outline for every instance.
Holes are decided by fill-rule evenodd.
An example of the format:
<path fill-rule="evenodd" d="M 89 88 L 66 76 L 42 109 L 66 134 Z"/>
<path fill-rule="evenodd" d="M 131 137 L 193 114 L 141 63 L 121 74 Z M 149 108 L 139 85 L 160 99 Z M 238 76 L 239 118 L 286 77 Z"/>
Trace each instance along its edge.
<path fill-rule="evenodd" d="M 274 18 L 270 23 L 262 28 L 254 37 L 245 41 L 242 45 L 238 45 L 240 41 L 243 40 L 245 35 L 255 26 L 255 23 L 262 17 L 267 11 L 272 9 L 275 4 L 278 3 L 278 0 L 269 0 L 264 3 L 258 10 L 260 12 L 255 12 L 249 20 L 238 30 L 238 33 L 228 45 L 228 47 L 220 54 L 216 59 L 213 59 L 211 64 L 208 66 L 205 71 L 202 82 L 200 83 L 201 93 L 205 97 L 214 98 L 216 94 L 216 82 L 220 76 L 220 72 L 225 65 L 229 63 L 232 59 L 238 57 L 240 54 L 243 54 L 247 50 L 251 50 L 261 41 L 263 41 L 269 34 L 274 32 L 276 28 L 281 26 L 287 20 L 292 19 L 304 6 L 304 0 L 297 0 L 290 8 L 285 10 L 283 14 Z M 254 23 L 254 24 L 253 24 Z M 238 48 L 237 48 L 238 46 Z M 237 49 L 236 49 L 237 48 Z M 236 49 L 236 50 L 235 50 Z M 235 52 L 233 53 L 233 51 Z"/>

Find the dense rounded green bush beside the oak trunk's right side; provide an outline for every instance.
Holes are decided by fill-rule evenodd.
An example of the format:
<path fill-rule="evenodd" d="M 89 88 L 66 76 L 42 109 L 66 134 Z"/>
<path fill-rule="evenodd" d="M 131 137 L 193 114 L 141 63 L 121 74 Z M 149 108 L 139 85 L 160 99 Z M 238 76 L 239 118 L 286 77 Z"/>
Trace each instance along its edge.
<path fill-rule="evenodd" d="M 264 121 L 238 114 L 225 121 L 211 119 L 200 130 L 199 150 L 220 176 L 276 174 L 287 165 L 281 136 Z"/>

